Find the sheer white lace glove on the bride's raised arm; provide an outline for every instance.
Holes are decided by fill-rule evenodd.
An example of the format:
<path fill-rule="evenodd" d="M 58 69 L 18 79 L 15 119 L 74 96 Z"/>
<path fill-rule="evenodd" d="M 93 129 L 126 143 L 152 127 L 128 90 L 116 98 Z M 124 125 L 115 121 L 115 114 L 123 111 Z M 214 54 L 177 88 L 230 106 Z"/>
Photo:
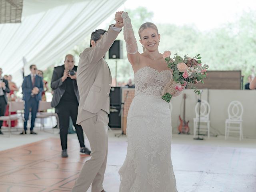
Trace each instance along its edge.
<path fill-rule="evenodd" d="M 126 43 L 126 50 L 129 54 L 136 54 L 138 52 L 138 45 L 132 29 L 131 20 L 126 12 L 122 13 L 124 22 L 124 40 Z"/>

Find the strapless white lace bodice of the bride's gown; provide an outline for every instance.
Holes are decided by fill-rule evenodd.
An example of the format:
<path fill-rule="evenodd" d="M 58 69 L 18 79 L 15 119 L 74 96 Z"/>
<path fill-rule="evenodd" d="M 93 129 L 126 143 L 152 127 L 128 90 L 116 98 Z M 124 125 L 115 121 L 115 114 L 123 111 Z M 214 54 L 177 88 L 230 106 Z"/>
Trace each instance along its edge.
<path fill-rule="evenodd" d="M 135 96 L 162 96 L 164 86 L 171 78 L 172 74 L 169 70 L 158 72 L 149 66 L 142 67 L 134 74 Z"/>

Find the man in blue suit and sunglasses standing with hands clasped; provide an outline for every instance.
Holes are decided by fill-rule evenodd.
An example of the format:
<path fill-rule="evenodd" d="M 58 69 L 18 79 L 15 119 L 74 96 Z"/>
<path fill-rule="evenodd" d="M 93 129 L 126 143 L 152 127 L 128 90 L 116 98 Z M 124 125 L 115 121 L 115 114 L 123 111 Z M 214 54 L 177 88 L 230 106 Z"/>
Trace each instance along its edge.
<path fill-rule="evenodd" d="M 35 120 L 36 120 L 36 113 L 38 111 L 38 104 L 42 97 L 42 91 L 44 90 L 43 80 L 42 77 L 37 75 L 37 68 L 36 65 L 30 65 L 31 74 L 24 77 L 22 83 L 22 93 L 23 93 L 23 100 L 25 101 L 25 108 L 24 108 L 24 131 L 20 134 L 27 134 L 27 123 L 28 123 L 28 116 L 31 108 L 31 126 L 30 126 L 30 134 L 37 134 L 33 131 Z"/>

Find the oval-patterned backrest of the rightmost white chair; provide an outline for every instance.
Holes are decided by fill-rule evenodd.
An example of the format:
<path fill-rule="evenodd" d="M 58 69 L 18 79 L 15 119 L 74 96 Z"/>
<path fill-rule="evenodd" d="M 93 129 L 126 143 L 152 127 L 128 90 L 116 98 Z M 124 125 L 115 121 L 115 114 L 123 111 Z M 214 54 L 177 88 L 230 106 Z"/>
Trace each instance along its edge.
<path fill-rule="evenodd" d="M 242 114 L 244 108 L 239 101 L 232 101 L 228 105 L 228 119 L 230 120 L 242 120 Z"/>

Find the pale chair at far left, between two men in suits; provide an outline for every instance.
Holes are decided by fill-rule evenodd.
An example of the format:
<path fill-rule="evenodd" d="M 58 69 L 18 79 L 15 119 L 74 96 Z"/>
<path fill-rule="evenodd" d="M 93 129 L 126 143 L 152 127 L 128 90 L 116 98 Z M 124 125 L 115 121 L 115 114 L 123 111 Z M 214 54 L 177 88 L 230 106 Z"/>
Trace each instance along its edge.
<path fill-rule="evenodd" d="M 8 104 L 9 104 L 9 108 L 8 108 L 9 114 L 8 114 L 8 116 L 0 116 L 0 120 L 8 121 L 8 129 L 9 129 L 9 136 L 10 136 L 11 135 L 11 121 L 22 119 L 24 122 L 24 118 L 22 115 L 20 115 L 18 113 L 11 115 L 11 112 L 23 111 L 25 102 L 24 101 L 19 101 L 19 102 L 12 101 L 12 102 L 8 102 Z"/>

